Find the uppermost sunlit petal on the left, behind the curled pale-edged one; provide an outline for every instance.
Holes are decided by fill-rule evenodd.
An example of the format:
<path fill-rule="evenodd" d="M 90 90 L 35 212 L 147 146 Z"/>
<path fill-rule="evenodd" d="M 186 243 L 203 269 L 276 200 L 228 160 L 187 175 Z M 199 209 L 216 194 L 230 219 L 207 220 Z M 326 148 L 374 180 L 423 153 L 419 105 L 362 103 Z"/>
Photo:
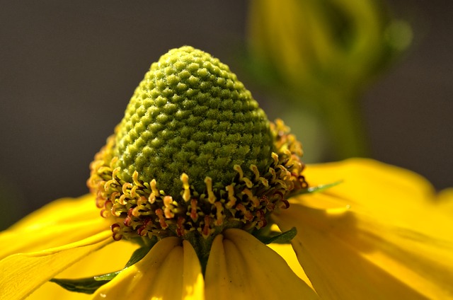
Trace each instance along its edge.
<path fill-rule="evenodd" d="M 19 252 L 55 248 L 108 229 L 94 197 L 56 200 L 0 233 L 0 259 Z"/>

